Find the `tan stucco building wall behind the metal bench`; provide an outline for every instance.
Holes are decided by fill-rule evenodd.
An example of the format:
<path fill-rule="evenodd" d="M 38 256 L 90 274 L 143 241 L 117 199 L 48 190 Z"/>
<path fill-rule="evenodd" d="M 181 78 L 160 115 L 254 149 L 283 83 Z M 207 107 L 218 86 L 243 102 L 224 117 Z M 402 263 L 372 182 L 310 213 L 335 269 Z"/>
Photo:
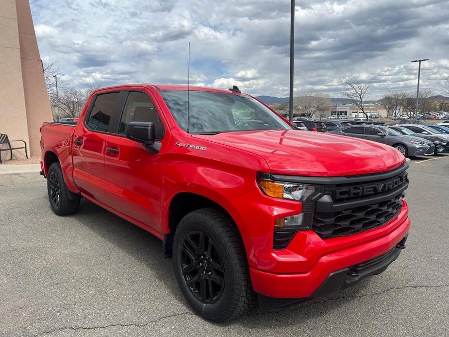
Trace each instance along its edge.
<path fill-rule="evenodd" d="M 28 0 L 0 0 L 0 60 L 0 133 L 25 140 L 37 156 L 39 128 L 53 118 Z M 13 158 L 25 157 L 20 151 Z"/>

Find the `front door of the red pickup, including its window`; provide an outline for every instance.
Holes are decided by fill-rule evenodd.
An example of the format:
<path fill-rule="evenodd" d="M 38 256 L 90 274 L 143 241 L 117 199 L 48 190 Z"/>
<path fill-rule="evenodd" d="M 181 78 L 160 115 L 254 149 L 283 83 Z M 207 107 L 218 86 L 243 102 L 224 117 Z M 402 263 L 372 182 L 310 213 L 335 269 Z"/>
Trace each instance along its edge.
<path fill-rule="evenodd" d="M 105 151 L 108 205 L 160 232 L 160 197 L 163 178 L 161 154 L 150 152 L 125 137 L 131 121 L 153 122 L 156 141 L 164 143 L 164 124 L 150 93 L 130 91 L 118 123 Z"/>

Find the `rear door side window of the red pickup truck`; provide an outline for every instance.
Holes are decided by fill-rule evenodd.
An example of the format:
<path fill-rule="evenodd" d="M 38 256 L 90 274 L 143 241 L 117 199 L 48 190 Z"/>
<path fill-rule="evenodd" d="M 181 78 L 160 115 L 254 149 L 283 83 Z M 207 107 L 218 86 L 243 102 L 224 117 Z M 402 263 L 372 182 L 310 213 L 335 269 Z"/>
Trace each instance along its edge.
<path fill-rule="evenodd" d="M 94 131 L 108 131 L 111 117 L 116 111 L 119 92 L 98 95 L 87 120 L 87 126 Z"/>

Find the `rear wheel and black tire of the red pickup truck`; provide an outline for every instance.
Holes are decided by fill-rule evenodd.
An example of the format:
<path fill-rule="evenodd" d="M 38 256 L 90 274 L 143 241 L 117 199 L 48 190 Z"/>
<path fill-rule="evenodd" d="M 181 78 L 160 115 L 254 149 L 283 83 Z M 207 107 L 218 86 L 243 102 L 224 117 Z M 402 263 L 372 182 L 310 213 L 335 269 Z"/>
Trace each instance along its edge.
<path fill-rule="evenodd" d="M 57 215 L 69 215 L 78 210 L 80 198 L 71 196 L 64 182 L 64 178 L 59 163 L 50 166 L 47 177 L 47 189 L 49 193 L 50 206 Z"/>

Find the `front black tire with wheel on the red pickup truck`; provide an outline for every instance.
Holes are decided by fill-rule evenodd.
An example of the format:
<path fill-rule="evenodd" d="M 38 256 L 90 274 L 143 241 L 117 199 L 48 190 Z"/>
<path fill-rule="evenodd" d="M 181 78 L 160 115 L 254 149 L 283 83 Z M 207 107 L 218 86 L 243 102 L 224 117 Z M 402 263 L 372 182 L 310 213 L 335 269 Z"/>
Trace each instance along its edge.
<path fill-rule="evenodd" d="M 219 209 L 195 210 L 181 220 L 173 257 L 181 291 L 202 317 L 223 322 L 254 307 L 243 243 L 232 219 Z"/>

